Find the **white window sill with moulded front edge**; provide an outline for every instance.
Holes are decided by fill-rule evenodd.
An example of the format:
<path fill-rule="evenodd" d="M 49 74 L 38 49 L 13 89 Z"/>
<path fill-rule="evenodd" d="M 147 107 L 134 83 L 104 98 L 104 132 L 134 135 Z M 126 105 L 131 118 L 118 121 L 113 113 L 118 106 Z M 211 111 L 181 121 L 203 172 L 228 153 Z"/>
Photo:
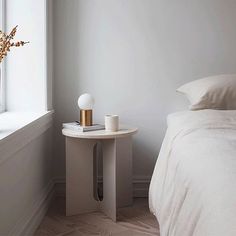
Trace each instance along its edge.
<path fill-rule="evenodd" d="M 52 126 L 53 111 L 0 114 L 0 164 Z"/>

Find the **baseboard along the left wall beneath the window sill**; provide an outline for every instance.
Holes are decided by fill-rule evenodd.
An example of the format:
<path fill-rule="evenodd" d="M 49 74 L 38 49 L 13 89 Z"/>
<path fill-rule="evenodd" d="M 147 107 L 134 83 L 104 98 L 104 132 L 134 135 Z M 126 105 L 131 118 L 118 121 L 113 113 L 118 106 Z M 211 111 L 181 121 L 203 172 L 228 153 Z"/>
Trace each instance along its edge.
<path fill-rule="evenodd" d="M 30 236 L 33 235 L 40 225 L 43 217 L 46 215 L 48 207 L 54 196 L 54 181 L 50 181 L 42 194 L 37 198 L 33 206 L 26 210 L 25 215 L 13 227 L 9 235 Z"/>

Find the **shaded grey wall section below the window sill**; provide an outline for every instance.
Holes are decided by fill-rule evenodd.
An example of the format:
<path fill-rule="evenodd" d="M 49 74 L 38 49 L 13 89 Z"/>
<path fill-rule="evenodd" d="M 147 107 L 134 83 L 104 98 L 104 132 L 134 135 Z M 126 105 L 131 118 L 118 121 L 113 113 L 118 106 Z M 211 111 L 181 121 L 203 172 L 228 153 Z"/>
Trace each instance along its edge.
<path fill-rule="evenodd" d="M 27 221 L 34 223 L 34 214 L 39 214 L 37 207 L 52 180 L 51 142 L 48 129 L 0 163 L 0 235 L 20 235 L 19 229 L 29 227 Z"/>

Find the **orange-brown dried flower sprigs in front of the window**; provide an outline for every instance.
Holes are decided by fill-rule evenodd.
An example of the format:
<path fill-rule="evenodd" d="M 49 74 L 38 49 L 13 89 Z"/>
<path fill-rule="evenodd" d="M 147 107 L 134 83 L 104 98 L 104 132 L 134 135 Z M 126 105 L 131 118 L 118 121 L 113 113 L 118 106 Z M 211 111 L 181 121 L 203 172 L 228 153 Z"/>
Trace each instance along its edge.
<path fill-rule="evenodd" d="M 12 42 L 15 37 L 17 27 L 14 27 L 10 34 L 6 34 L 0 30 L 0 63 L 7 56 L 7 53 L 10 52 L 11 47 L 20 47 L 24 46 L 26 43 L 24 41 Z"/>

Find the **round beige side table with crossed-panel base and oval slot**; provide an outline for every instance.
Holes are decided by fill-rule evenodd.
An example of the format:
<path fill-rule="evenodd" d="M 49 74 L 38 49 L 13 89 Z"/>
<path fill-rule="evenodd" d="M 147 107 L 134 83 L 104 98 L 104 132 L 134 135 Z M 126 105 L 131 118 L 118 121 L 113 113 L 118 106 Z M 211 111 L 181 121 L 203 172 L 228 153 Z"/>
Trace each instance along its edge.
<path fill-rule="evenodd" d="M 117 132 L 77 132 L 63 129 L 66 136 L 66 215 L 101 210 L 116 221 L 117 207 L 132 204 L 132 135 L 136 128 Z M 95 151 L 103 153 L 103 200 L 96 189 Z"/>

